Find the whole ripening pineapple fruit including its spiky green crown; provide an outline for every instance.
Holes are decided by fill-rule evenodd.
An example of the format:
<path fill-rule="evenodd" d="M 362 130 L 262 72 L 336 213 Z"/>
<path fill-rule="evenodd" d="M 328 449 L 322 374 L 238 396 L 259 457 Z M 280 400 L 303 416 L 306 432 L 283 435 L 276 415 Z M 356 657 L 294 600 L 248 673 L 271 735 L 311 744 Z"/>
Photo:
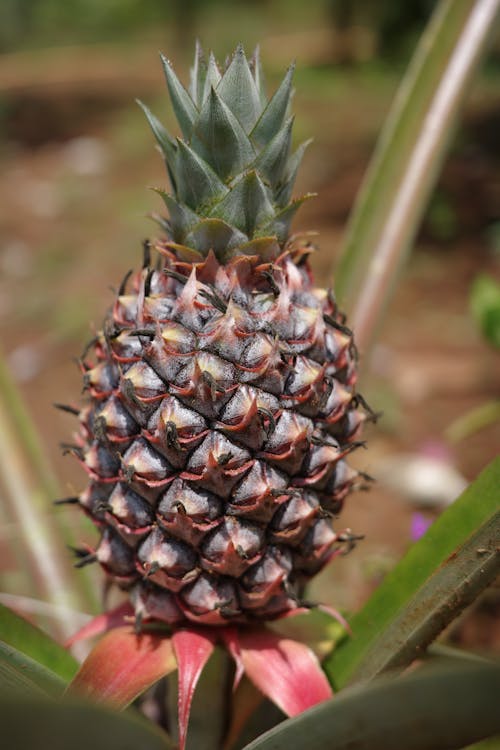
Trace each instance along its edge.
<path fill-rule="evenodd" d="M 291 153 L 293 68 L 269 100 L 258 53 L 197 49 L 186 90 L 163 59 L 182 138 L 143 107 L 165 159 L 164 237 L 144 245 L 81 362 L 77 499 L 97 560 L 138 619 L 252 623 L 302 603 L 349 540 L 334 518 L 369 416 L 356 349 L 312 250 L 290 236 L 307 143 Z M 153 257 L 154 252 L 154 257 Z"/>

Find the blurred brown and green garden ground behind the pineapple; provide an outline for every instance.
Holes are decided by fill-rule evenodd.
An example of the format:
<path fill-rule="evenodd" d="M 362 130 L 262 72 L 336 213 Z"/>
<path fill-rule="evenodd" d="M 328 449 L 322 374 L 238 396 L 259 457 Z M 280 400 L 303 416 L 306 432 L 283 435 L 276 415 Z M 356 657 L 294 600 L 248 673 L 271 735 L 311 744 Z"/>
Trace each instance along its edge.
<path fill-rule="evenodd" d="M 319 232 L 314 266 L 323 282 L 434 6 L 432 0 L 2 0 L 1 348 L 62 495 L 78 493 L 84 476 L 61 456 L 59 443 L 70 438 L 73 424 L 52 403 L 78 403 L 73 358 L 111 303 L 110 286 L 139 261 L 141 240 L 156 231 L 147 214 L 159 210 L 159 199 L 147 187 L 166 185 L 134 102 L 141 98 L 172 126 L 158 50 L 186 81 L 196 38 L 219 60 L 239 41 L 247 52 L 259 42 L 269 91 L 296 59 L 295 138 L 314 137 L 296 192 L 319 196 L 295 227 Z M 358 451 L 356 462 L 377 483 L 350 498 L 338 524 L 366 538 L 311 592 L 340 608 L 359 606 L 412 537 L 498 453 L 498 320 L 485 321 L 480 302 L 485 284 L 499 293 L 499 84 L 497 38 L 364 361 L 363 394 L 383 417 L 368 428 L 368 450 Z M 47 507 L 55 512 L 65 514 L 77 542 L 94 538 L 78 513 Z M 6 508 L 0 522 L 0 590 L 32 595 Z M 493 588 L 454 626 L 453 638 L 500 650 L 498 614 Z"/>

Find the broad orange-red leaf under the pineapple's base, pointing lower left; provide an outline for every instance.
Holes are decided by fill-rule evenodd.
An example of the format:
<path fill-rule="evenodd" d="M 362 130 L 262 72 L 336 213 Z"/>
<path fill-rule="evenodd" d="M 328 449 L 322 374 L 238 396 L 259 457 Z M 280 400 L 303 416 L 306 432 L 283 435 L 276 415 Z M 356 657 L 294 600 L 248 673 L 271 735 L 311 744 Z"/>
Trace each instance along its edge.
<path fill-rule="evenodd" d="M 93 648 L 70 687 L 123 708 L 175 669 L 170 637 L 116 628 Z"/>

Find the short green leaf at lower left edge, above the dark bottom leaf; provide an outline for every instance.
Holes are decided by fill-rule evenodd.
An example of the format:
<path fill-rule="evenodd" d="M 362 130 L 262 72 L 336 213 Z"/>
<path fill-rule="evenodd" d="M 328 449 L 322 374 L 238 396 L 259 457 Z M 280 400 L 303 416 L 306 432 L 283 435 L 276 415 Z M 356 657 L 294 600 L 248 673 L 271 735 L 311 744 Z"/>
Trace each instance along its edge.
<path fill-rule="evenodd" d="M 0 640 L 22 651 L 65 681 L 71 680 L 78 662 L 46 633 L 0 604 Z"/>

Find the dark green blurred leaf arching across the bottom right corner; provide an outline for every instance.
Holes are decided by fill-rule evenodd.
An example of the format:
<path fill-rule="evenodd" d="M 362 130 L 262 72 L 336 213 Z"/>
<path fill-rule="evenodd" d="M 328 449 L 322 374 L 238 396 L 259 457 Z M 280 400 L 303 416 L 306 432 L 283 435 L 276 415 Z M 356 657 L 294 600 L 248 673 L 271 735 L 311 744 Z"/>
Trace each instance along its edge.
<path fill-rule="evenodd" d="M 245 750 L 458 750 L 500 732 L 500 667 L 422 669 L 344 691 Z"/>

